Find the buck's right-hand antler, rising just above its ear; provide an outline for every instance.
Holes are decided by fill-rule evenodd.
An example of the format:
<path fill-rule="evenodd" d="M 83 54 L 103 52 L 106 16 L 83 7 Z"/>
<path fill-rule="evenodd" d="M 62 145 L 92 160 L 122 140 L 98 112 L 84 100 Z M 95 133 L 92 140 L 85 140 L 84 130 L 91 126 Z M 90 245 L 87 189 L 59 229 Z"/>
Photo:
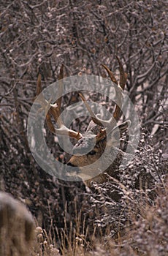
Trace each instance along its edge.
<path fill-rule="evenodd" d="M 116 94 L 118 96 L 118 105 L 115 106 L 115 111 L 113 113 L 112 118 L 110 118 L 109 120 L 102 120 L 101 118 L 97 117 L 93 111 L 91 110 L 91 107 L 88 105 L 88 103 L 85 100 L 85 97 L 83 96 L 83 94 L 80 93 L 80 97 L 83 100 L 85 107 L 88 109 L 88 112 L 91 115 L 92 121 L 95 124 L 98 124 L 100 126 L 104 125 L 104 127 L 114 127 L 115 125 L 115 121 L 118 121 L 120 116 L 121 116 L 121 108 L 119 106 L 122 105 L 122 99 L 123 99 L 123 90 L 125 88 L 126 85 L 126 79 L 127 79 L 127 74 L 123 71 L 123 65 L 121 64 L 120 59 L 118 59 L 118 56 L 116 56 L 117 60 L 118 60 L 118 64 L 119 64 L 119 70 L 120 70 L 120 82 L 118 84 L 118 81 L 116 80 L 115 76 L 113 75 L 112 71 L 105 65 L 102 65 L 102 67 L 104 67 L 104 69 L 107 70 L 108 75 L 110 76 L 110 79 L 112 80 L 112 82 L 114 82 L 115 84 L 118 85 L 117 87 L 117 91 Z"/>

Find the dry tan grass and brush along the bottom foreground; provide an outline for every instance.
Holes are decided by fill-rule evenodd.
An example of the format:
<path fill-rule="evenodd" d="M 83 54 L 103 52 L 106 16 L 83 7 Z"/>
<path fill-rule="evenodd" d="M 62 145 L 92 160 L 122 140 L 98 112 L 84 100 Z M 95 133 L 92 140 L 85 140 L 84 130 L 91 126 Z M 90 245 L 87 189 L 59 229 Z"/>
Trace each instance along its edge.
<path fill-rule="evenodd" d="M 79 214 L 76 218 L 76 227 L 67 228 L 65 225 L 61 233 L 58 233 L 56 229 L 58 239 L 52 238 L 42 227 L 36 227 L 36 236 L 28 255 L 168 255 L 168 182 L 164 189 L 159 192 L 159 197 L 153 206 L 149 206 L 147 203 L 142 204 L 142 201 L 139 203 L 142 212 L 139 219 L 134 216 L 134 209 L 131 208 L 130 204 L 131 228 L 125 228 L 123 236 L 118 235 L 118 238 L 110 238 L 108 234 L 97 236 L 96 227 L 91 236 L 88 227 L 85 228 L 85 224 L 80 222 L 81 216 Z M 83 232 L 79 233 L 81 226 L 83 226 Z"/>

